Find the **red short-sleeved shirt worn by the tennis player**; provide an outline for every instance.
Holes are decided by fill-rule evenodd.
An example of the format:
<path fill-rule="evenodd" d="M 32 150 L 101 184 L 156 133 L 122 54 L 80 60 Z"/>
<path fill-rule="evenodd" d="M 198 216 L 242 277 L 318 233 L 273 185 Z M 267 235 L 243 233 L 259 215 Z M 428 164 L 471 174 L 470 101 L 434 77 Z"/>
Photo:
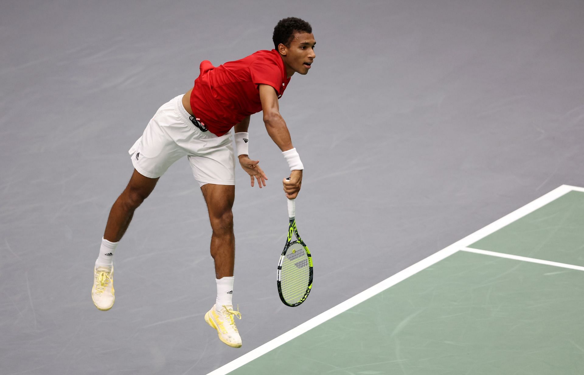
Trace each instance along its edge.
<path fill-rule="evenodd" d="M 276 50 L 258 51 L 216 68 L 205 60 L 194 81 L 190 106 L 211 133 L 223 136 L 245 117 L 262 110 L 259 84 L 272 86 L 280 98 L 288 82 L 290 78 Z"/>

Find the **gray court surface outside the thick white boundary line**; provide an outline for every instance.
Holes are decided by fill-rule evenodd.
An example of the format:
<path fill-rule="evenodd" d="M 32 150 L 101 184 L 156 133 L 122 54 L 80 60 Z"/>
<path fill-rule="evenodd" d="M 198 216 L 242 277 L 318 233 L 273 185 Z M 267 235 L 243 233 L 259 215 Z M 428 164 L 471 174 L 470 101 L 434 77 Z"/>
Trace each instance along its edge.
<path fill-rule="evenodd" d="M 559 185 L 584 186 L 583 15 L 576 0 L 0 2 L 0 374 L 206 374 Z M 116 304 L 98 311 L 92 267 L 128 148 L 201 60 L 273 48 L 287 16 L 317 40 L 280 99 L 306 168 L 310 297 L 277 297 L 287 168 L 256 114 L 250 153 L 269 181 L 252 189 L 237 171 L 242 348 L 203 320 L 210 225 L 186 159 L 137 210 Z"/>

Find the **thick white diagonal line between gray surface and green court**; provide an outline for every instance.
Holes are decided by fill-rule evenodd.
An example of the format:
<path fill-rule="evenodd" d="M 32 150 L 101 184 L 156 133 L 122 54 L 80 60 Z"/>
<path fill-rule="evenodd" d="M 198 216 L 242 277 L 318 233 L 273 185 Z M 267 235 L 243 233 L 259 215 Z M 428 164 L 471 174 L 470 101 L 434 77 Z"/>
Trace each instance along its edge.
<path fill-rule="evenodd" d="M 284 343 L 290 341 L 291 339 L 296 338 L 297 336 L 300 336 L 301 334 L 304 334 L 304 332 L 307 332 L 308 330 L 317 327 L 317 325 L 322 324 L 333 317 L 336 317 L 336 315 L 339 315 L 340 313 L 349 310 L 349 308 L 352 308 L 353 306 L 360 304 L 361 302 L 375 296 L 376 294 L 381 293 L 381 291 L 384 291 L 388 287 L 394 286 L 395 284 L 401 282 L 402 280 L 405 280 L 408 277 L 415 275 L 416 273 L 420 272 L 425 268 L 428 268 L 434 263 L 442 261 L 442 259 L 454 254 L 460 249 L 467 248 L 468 245 L 474 244 L 474 242 L 477 242 L 479 239 L 484 238 L 495 231 L 498 231 L 500 228 L 503 228 L 506 225 L 513 223 L 513 221 L 522 218 L 523 216 L 526 216 L 527 214 L 537 210 L 540 207 L 545 206 L 545 204 L 548 204 L 553 200 L 558 199 L 562 195 L 571 192 L 572 190 L 584 192 L 584 188 L 578 188 L 577 186 L 569 185 L 559 186 L 558 188 L 539 197 L 533 202 L 527 203 L 520 209 L 517 209 L 512 213 L 500 218 L 499 220 L 489 225 L 486 225 L 486 227 L 479 229 L 478 231 L 468 235 L 467 237 L 464 237 L 460 241 L 454 242 L 454 244 L 428 256 L 425 259 L 422 259 L 422 261 L 419 261 L 418 263 L 409 266 L 408 268 L 396 273 L 395 275 L 388 277 L 382 282 L 370 287 L 367 290 L 362 291 L 356 296 L 351 297 L 348 300 L 336 305 L 335 307 L 326 310 L 324 313 L 317 315 L 311 320 L 308 320 L 303 324 L 298 325 L 298 327 L 290 329 L 290 331 L 278 336 L 277 338 L 274 338 L 271 341 L 266 342 L 261 346 L 258 346 L 258 348 L 253 349 L 248 353 L 245 353 L 241 357 L 232 360 L 230 363 L 227 363 L 224 366 L 219 367 L 217 370 L 211 371 L 207 375 L 225 375 L 235 369 L 238 369 L 244 364 L 251 362 L 252 360 L 258 358 L 259 356 L 264 355 L 270 350 L 275 349 L 280 345 L 283 345 Z"/>

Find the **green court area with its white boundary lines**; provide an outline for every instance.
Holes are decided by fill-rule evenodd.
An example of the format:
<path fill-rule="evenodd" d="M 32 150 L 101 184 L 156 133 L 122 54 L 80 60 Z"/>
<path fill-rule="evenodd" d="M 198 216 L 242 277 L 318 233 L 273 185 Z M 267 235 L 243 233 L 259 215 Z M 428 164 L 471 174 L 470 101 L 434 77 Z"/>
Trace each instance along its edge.
<path fill-rule="evenodd" d="M 210 374 L 582 374 L 583 228 L 560 186 Z"/>

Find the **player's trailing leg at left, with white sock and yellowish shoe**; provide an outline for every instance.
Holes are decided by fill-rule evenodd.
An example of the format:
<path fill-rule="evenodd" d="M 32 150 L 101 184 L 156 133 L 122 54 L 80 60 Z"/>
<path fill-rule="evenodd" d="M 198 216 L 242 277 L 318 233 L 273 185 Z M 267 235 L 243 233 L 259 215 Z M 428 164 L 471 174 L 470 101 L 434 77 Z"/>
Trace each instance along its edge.
<path fill-rule="evenodd" d="M 142 176 L 134 169 L 126 189 L 114 202 L 107 218 L 106 230 L 103 234 L 99 257 L 93 270 L 93 288 L 91 298 L 99 310 L 106 311 L 112 308 L 115 296 L 113 289 L 113 253 L 117 242 L 126 232 L 135 209 L 146 199 L 158 178 Z"/>

